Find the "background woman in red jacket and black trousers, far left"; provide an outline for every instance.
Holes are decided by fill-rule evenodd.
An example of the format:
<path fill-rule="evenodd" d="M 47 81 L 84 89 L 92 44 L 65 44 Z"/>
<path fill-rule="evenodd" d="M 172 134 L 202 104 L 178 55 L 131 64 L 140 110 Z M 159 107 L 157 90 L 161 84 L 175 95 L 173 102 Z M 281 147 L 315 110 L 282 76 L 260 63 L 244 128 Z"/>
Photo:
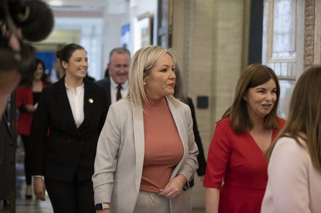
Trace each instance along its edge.
<path fill-rule="evenodd" d="M 34 66 L 33 69 L 33 79 L 30 83 L 26 86 L 20 86 L 17 89 L 17 107 L 20 110 L 17 132 L 21 135 L 25 148 L 25 175 L 27 182 L 26 199 L 32 198 L 30 171 L 32 151 L 32 143 L 30 139 L 31 123 L 42 88 L 50 84 L 47 75 L 44 73 L 46 69 L 45 64 L 41 59 L 36 58 L 36 66 Z"/>

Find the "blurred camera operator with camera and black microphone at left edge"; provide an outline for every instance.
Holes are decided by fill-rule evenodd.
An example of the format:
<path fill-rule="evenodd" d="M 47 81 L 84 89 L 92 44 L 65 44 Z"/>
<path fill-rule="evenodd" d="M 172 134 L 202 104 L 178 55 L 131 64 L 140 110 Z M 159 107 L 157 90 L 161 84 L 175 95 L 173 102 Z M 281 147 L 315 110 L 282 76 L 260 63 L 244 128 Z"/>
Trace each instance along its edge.
<path fill-rule="evenodd" d="M 15 182 L 15 144 L 4 111 L 9 95 L 31 74 L 35 51 L 29 41 L 41 41 L 52 31 L 53 12 L 41 0 L 0 1 L 0 200 Z"/>

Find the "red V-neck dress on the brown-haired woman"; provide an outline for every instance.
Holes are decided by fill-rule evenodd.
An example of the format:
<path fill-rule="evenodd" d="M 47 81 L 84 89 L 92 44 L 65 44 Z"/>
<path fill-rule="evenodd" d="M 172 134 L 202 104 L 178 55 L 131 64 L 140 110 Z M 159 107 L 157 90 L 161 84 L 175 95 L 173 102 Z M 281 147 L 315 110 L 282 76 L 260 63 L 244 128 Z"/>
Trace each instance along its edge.
<path fill-rule="evenodd" d="M 278 120 L 282 128 L 285 120 Z M 272 140 L 279 130 L 273 129 Z M 250 133 L 236 133 L 229 117 L 219 121 L 204 180 L 205 187 L 220 189 L 219 212 L 260 212 L 266 184 L 267 160 Z"/>

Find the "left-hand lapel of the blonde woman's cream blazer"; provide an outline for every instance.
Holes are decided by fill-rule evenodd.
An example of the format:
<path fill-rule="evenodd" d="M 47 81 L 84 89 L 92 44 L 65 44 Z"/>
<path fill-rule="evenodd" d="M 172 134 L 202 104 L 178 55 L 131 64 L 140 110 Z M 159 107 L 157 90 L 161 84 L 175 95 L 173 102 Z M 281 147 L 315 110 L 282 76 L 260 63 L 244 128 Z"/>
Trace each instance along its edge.
<path fill-rule="evenodd" d="M 131 103 L 132 108 L 132 119 L 134 129 L 134 142 L 136 151 L 136 190 L 139 191 L 139 185 L 141 181 L 142 166 L 144 162 L 144 151 L 145 151 L 145 136 L 144 136 L 144 120 L 142 114 L 142 106 L 137 106 Z"/>

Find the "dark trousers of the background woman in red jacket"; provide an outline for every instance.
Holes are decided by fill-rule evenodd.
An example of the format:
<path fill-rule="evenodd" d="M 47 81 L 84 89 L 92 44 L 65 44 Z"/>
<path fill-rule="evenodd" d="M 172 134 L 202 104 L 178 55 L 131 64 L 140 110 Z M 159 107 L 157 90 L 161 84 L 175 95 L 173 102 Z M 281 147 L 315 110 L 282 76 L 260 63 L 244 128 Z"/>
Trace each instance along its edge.
<path fill-rule="evenodd" d="M 27 185 L 31 185 L 32 140 L 28 135 L 21 134 L 25 148 L 25 176 Z"/>

